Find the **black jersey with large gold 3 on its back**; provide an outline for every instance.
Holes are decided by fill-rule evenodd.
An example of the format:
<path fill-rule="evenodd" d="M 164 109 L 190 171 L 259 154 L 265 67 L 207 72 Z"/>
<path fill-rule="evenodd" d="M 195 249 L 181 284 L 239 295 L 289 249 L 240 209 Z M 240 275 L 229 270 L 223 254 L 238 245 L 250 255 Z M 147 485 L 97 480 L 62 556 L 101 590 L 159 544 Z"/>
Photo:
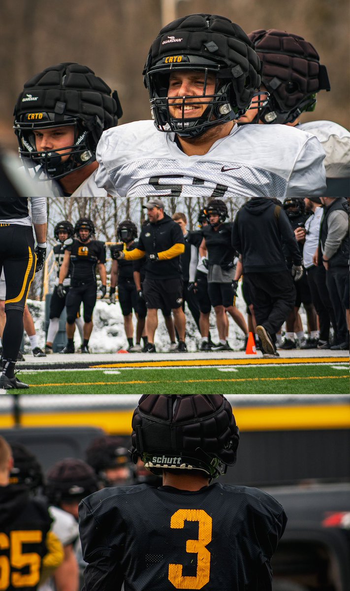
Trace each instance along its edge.
<path fill-rule="evenodd" d="M 79 506 L 86 591 L 271 590 L 283 507 L 255 488 L 106 488 Z"/>

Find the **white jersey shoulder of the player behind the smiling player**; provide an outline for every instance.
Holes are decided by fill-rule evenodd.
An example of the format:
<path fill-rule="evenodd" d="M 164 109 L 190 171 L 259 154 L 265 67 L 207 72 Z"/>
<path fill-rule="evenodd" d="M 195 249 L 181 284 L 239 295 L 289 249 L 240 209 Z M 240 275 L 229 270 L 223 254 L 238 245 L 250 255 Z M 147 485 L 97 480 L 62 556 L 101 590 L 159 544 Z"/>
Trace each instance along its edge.
<path fill-rule="evenodd" d="M 300 123 L 297 129 L 316 135 L 326 152 L 327 178 L 350 177 L 350 131 L 333 121 Z"/>

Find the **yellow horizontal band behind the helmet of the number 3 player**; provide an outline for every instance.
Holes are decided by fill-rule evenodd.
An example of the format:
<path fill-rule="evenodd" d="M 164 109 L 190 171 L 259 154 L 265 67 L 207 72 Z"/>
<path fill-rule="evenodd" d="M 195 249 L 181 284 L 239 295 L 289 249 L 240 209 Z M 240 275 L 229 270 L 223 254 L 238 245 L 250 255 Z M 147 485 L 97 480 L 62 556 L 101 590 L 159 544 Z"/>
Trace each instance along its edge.
<path fill-rule="evenodd" d="M 107 433 L 131 434 L 133 411 L 101 410 L 66 411 L 64 413 L 24 414 L 23 427 L 78 427 L 103 428 Z M 241 431 L 302 430 L 350 428 L 350 406 L 346 404 L 287 405 L 234 408 L 235 418 Z M 8 419 L 0 417 L 0 427 L 11 427 Z"/>

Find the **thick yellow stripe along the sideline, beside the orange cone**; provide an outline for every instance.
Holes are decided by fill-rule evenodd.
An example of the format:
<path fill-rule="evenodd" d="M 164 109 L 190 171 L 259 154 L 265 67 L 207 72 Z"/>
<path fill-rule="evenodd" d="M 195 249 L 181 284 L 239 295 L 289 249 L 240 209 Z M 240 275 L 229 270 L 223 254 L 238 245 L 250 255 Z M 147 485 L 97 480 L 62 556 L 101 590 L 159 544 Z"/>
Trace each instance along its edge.
<path fill-rule="evenodd" d="M 349 363 L 348 357 L 300 357 L 300 358 L 277 358 L 277 359 L 179 359 L 174 361 L 130 361 L 119 363 L 100 363 L 90 365 L 90 368 L 152 368 L 152 367 L 190 367 L 213 366 L 213 365 L 278 365 L 278 363 Z"/>

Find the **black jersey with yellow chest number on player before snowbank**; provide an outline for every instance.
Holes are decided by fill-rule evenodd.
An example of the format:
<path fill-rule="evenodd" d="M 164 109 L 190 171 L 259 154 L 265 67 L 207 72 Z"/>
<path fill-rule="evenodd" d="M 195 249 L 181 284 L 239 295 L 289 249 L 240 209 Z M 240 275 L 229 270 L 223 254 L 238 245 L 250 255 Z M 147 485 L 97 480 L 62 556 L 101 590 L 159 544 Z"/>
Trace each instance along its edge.
<path fill-rule="evenodd" d="M 72 263 L 71 285 L 96 283 L 96 265 L 98 262 L 106 262 L 105 243 L 100 240 L 90 240 L 90 242 L 80 242 L 74 240 L 72 244 L 64 247 L 70 252 L 70 262 Z"/>

